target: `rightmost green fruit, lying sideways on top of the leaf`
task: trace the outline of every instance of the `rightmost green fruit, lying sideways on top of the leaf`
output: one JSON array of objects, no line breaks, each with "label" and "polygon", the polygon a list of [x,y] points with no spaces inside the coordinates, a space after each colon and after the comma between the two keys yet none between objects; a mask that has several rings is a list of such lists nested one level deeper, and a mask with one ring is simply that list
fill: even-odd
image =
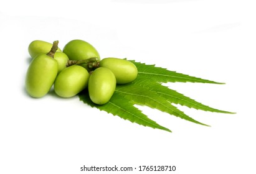
[{"label": "rightmost green fruit, lying sideways on top of the leaf", "polygon": [[118,84],[130,83],[138,76],[137,67],[125,59],[103,58],[100,61],[100,67],[110,69],[114,73]]}]

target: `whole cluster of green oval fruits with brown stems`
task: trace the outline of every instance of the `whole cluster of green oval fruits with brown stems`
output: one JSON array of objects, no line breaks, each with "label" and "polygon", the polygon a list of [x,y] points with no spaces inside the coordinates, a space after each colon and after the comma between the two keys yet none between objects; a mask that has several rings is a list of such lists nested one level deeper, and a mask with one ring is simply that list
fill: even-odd
[{"label": "whole cluster of green oval fruits with brown stems", "polygon": [[63,50],[53,44],[34,40],[29,44],[32,62],[26,74],[26,91],[41,98],[52,86],[62,98],[70,98],[88,88],[95,104],[107,103],[116,84],[130,83],[138,75],[136,66],[120,58],[103,58],[84,40],[71,40]]}]

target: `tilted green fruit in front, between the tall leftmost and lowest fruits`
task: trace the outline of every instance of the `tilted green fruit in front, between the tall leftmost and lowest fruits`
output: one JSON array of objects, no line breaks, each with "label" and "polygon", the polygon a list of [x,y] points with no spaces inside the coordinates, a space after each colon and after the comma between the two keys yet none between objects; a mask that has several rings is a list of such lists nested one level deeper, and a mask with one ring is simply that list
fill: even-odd
[{"label": "tilted green fruit in front, between the tall leftmost and lowest fruits", "polygon": [[87,87],[88,78],[89,73],[82,66],[69,66],[57,76],[54,82],[54,91],[62,98],[70,98]]}]

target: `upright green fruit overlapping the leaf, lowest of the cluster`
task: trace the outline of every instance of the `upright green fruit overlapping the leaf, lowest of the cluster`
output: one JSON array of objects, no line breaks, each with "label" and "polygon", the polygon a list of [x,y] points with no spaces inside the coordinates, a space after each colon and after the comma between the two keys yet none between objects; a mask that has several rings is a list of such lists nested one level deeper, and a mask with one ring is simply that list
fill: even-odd
[{"label": "upright green fruit overlapping the leaf, lowest of the cluster", "polygon": [[115,75],[108,68],[97,68],[89,77],[89,96],[95,104],[107,103],[113,95],[115,88]]}]

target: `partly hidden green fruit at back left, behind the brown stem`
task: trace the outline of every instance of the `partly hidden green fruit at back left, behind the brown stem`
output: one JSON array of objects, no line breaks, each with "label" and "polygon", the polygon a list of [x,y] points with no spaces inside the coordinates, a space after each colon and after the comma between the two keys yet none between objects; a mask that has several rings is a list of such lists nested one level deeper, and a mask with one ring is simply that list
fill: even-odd
[{"label": "partly hidden green fruit at back left, behind the brown stem", "polygon": [[[32,58],[35,58],[41,53],[48,53],[50,48],[52,48],[52,43],[42,40],[34,40],[29,44],[29,55],[31,55]],[[61,52],[60,48],[57,49],[57,52]]]}]

